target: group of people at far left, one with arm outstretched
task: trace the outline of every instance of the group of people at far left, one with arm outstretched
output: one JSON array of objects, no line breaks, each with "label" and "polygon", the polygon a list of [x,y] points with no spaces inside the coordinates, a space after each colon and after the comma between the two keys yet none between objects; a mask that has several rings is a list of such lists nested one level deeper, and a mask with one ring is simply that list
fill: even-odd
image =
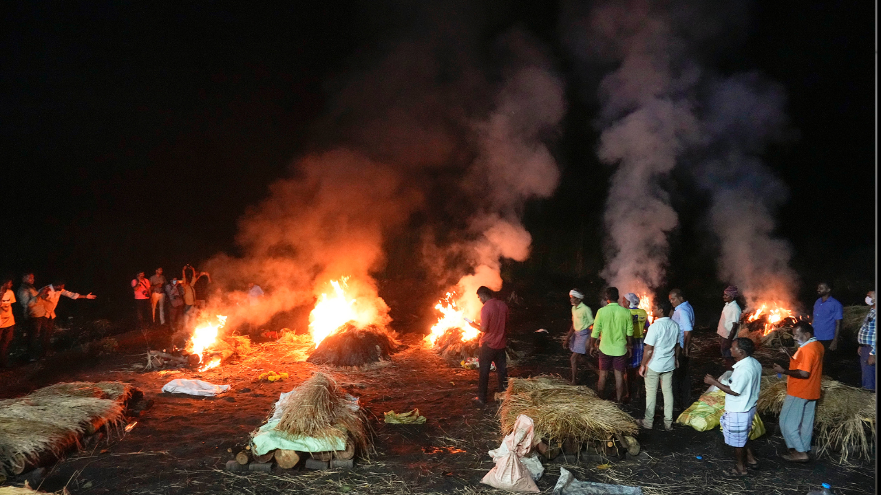
[{"label": "group of people at far left, one with arm outstretched", "polygon": [[[95,299],[92,292],[79,294],[65,289],[66,284],[58,280],[40,289],[34,286],[33,273],[21,278],[18,297],[12,292],[12,279],[5,278],[0,283],[0,367],[10,366],[9,346],[15,337],[17,326],[27,334],[28,357],[31,361],[44,358],[55,331],[56,307],[62,296],[69,299]],[[21,321],[16,325],[13,304],[21,306]]]}]

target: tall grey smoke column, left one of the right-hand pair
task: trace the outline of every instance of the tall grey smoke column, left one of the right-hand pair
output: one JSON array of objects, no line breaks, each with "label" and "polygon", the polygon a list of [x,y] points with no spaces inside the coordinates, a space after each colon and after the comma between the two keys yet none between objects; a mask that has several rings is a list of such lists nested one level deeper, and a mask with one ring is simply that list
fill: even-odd
[{"label": "tall grey smoke column, left one of the right-hand pair", "polygon": [[618,64],[599,87],[597,154],[617,166],[603,215],[601,276],[621,292],[650,293],[664,282],[667,234],[678,223],[660,182],[699,137],[693,92],[700,71],[681,53],[667,13],[649,2],[597,4],[586,27],[599,58]]}]

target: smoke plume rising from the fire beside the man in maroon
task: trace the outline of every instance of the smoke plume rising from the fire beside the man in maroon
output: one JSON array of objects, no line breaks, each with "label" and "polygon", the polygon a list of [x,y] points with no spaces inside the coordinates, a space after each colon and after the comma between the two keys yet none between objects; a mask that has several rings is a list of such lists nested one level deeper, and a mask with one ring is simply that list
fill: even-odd
[{"label": "smoke plume rising from the fire beside the man in maroon", "polygon": [[457,305],[472,317],[480,312],[479,286],[501,289],[501,260],[529,257],[532,236],[522,225],[524,203],[551,196],[559,182],[545,140],[555,136],[566,112],[563,82],[522,33],[512,33],[507,42],[516,55],[515,67],[492,114],[474,126],[478,158],[464,187],[478,209],[469,222],[471,240],[456,247],[470,265],[456,284]]}]

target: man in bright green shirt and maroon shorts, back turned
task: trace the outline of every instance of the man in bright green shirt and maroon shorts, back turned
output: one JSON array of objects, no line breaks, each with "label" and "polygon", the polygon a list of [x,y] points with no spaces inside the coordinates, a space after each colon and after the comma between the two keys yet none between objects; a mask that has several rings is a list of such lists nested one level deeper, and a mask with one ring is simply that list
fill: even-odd
[{"label": "man in bright green shirt and maroon shorts, back turned", "polygon": [[588,347],[591,356],[596,355],[597,349],[600,353],[600,379],[596,383],[596,394],[603,398],[606,377],[609,370],[613,369],[615,397],[621,403],[624,396],[624,370],[633,347],[633,316],[629,309],[618,305],[616,287],[607,288],[604,297],[608,304],[596,311],[594,330],[590,333]]}]

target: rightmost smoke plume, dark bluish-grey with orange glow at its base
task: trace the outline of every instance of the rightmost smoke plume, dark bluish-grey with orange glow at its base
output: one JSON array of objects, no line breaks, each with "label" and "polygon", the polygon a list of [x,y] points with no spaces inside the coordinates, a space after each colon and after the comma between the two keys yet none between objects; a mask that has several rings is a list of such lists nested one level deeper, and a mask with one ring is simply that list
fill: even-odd
[{"label": "rightmost smoke plume, dark bluish-grey with orange glow at its base", "polygon": [[719,277],[736,284],[751,307],[797,305],[791,247],[774,236],[774,211],[788,191],[759,159],[767,143],[786,137],[785,101],[780,85],[746,73],[714,81],[705,105],[708,158],[696,174],[712,194]]}]

